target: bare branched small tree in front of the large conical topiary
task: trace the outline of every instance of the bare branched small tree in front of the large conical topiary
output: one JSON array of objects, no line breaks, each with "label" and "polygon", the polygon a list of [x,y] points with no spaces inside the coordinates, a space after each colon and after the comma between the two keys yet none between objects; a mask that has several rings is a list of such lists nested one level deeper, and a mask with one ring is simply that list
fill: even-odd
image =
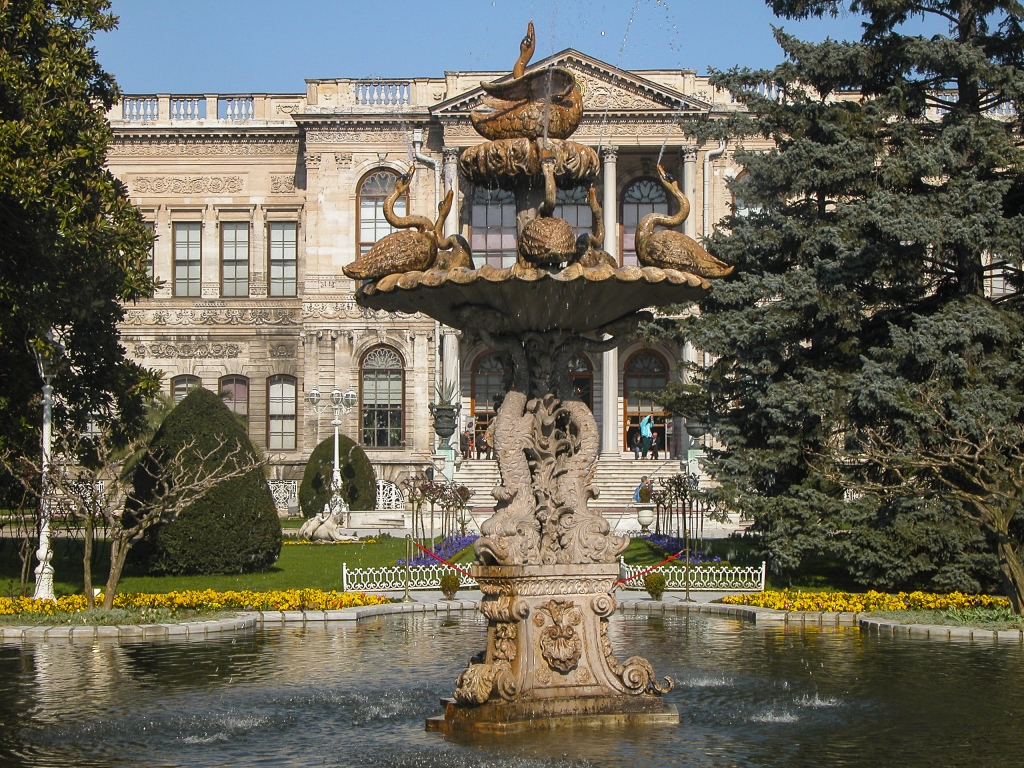
[{"label": "bare branched small tree in front of the large conical topiary", "polygon": [[[58,433],[45,478],[41,478],[41,467],[27,457],[14,457],[10,453],[0,455],[0,466],[11,474],[25,477],[25,486],[30,493],[45,493],[46,498],[42,501],[48,503],[50,509],[63,511],[86,527],[83,577],[89,607],[93,607],[93,521],[102,521],[111,547],[102,605],[104,610],[110,610],[128,553],[147,528],[175,520],[214,486],[259,469],[264,463],[250,456],[241,444],[231,446],[224,439],[208,451],[198,449],[195,441],[164,456],[145,451],[144,439],[119,443],[102,429],[89,433]],[[134,480],[138,479],[139,472],[153,487],[144,498],[135,493]]]}]

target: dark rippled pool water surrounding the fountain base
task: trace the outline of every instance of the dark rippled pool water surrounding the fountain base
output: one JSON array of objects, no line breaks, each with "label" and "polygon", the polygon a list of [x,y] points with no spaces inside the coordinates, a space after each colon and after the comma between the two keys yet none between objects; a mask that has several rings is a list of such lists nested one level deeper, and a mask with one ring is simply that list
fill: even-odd
[{"label": "dark rippled pool water surrounding the fountain base", "polygon": [[0,766],[1020,765],[1019,647],[616,616],[681,723],[443,740],[484,624],[381,618],[210,642],[0,648]]}]

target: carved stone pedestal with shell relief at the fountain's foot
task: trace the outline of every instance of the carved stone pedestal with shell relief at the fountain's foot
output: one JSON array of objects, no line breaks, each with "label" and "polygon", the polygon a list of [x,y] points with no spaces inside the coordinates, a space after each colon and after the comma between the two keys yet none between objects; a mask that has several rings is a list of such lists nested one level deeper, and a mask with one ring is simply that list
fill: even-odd
[{"label": "carved stone pedestal with shell relief at the fountain's foot", "polygon": [[428,730],[516,731],[561,725],[678,723],[647,659],[611,651],[614,563],[475,565],[487,647]]}]

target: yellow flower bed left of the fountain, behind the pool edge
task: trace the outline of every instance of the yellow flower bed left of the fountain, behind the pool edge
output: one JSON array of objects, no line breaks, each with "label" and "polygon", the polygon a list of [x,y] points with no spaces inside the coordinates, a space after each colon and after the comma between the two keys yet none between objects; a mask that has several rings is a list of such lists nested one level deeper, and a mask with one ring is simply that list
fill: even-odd
[{"label": "yellow flower bed left of the fountain, behind the pool edge", "polygon": [[[102,596],[96,598],[97,605]],[[114,596],[115,608],[170,608],[171,610],[337,610],[390,602],[380,595],[362,592],[325,592],[324,590],[275,590],[273,592],[187,590],[163,595],[143,592]],[[85,595],[68,595],[52,600],[31,597],[0,597],[0,615],[17,613],[74,613],[86,609]]]}]

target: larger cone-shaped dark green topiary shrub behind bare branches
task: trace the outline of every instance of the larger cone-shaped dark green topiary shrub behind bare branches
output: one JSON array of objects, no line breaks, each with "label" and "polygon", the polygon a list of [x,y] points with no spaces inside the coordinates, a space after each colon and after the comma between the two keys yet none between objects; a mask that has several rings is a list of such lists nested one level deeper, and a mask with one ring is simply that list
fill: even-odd
[{"label": "larger cone-shaped dark green topiary shrub behind bare branches", "polygon": [[[216,394],[197,388],[164,420],[142,461],[172,456],[193,441],[205,454],[220,440],[224,453],[241,445],[248,457],[259,455],[238,417]],[[211,458],[208,464],[212,470],[216,462]],[[153,480],[141,467],[134,480],[139,498],[153,493]],[[215,485],[176,520],[148,528],[135,549],[135,563],[155,573],[265,570],[281,554],[281,520],[262,468]]]}]

